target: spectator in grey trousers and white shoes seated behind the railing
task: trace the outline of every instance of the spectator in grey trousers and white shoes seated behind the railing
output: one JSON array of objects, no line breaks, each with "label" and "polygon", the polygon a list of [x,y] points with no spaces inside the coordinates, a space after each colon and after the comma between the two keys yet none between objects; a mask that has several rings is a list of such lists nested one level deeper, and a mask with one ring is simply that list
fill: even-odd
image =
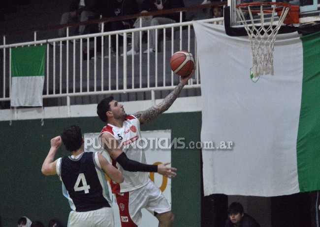
[{"label": "spectator in grey trousers and white shoes seated behind the railing", "polygon": [[[185,7],[183,0],[144,0],[142,2],[142,12],[161,11],[165,9],[174,9]],[[183,14],[183,20],[185,14]],[[180,21],[180,13],[155,15],[153,17],[142,18],[141,27],[157,26],[163,24],[172,24]],[[140,19],[134,24],[135,28],[140,28]],[[127,55],[137,54],[139,52],[139,32],[134,34],[133,47],[127,52]],[[143,53],[156,52],[156,31],[150,31],[150,48]]]}]

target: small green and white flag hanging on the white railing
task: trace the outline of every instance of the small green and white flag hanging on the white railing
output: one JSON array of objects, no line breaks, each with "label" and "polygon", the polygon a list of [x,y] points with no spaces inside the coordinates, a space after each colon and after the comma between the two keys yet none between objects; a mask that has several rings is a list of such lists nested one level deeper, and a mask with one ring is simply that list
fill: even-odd
[{"label": "small green and white flag hanging on the white railing", "polygon": [[11,50],[11,107],[42,106],[46,45]]}]

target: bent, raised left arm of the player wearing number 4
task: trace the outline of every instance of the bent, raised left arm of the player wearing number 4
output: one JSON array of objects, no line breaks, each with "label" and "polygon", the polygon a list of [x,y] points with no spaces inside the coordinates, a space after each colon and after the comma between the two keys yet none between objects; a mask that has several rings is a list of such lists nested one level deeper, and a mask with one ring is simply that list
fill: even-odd
[{"label": "bent, raised left arm of the player wearing number 4", "polygon": [[55,155],[62,144],[62,139],[60,136],[57,136],[50,141],[51,148],[47,157],[44,159],[41,172],[46,175],[55,175],[57,174],[56,166],[57,160],[54,161]]}]

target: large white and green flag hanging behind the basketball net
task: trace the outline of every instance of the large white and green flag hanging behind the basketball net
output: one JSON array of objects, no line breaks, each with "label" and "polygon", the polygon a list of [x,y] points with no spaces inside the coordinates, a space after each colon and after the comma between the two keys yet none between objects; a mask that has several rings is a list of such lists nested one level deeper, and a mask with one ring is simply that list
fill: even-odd
[{"label": "large white and green flag hanging behind the basketball net", "polygon": [[204,195],[320,190],[320,33],[278,35],[274,76],[254,81],[248,37],[229,37],[224,26],[193,26],[201,141],[215,148],[202,149]]}]

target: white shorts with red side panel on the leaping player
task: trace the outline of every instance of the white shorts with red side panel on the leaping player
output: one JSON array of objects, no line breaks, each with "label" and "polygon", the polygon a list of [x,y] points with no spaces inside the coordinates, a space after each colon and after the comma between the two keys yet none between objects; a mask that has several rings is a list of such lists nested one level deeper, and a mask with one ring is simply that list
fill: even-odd
[{"label": "white shorts with red side panel on the leaping player", "polygon": [[168,201],[152,181],[142,188],[117,193],[116,198],[122,227],[138,226],[142,208],[146,208],[153,215],[171,211]]}]

